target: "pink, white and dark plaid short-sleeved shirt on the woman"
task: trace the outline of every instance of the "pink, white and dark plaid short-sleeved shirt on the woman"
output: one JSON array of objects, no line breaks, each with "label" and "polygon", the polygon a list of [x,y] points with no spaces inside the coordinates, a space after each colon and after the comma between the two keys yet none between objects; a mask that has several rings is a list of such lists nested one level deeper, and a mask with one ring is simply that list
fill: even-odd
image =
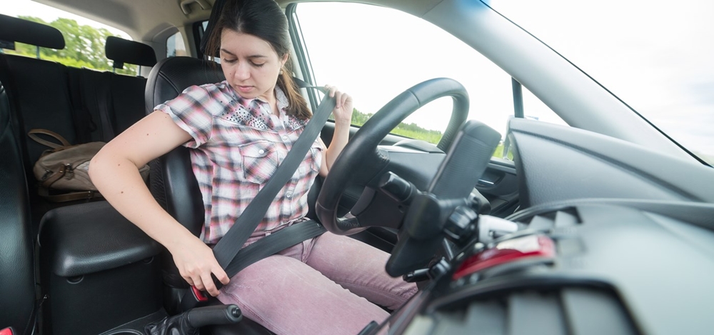
[{"label": "pink, white and dark plaid short-sleeved shirt on the woman", "polygon": [[[203,196],[203,241],[215,244],[281,164],[307,121],[288,116],[288,99],[276,86],[280,116],[259,99],[243,99],[226,81],[191,86],[156,106],[193,139],[193,174]],[[256,232],[299,221],[307,214],[307,194],[320,171],[323,147],[316,140],[293,177],[266,212]]]}]

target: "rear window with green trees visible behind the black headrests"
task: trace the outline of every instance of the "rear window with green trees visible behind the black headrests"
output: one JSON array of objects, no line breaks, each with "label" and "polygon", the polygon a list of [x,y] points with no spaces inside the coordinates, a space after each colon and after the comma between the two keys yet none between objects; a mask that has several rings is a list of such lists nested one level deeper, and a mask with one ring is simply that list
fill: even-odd
[{"label": "rear window with green trees visible behind the black headrests", "polygon": [[[39,48],[39,58],[56,61],[65,66],[112,71],[112,61],[104,54],[106,38],[118,36],[131,40],[124,31],[33,1],[19,0],[13,6],[3,6],[0,12],[47,24],[61,31],[65,41],[64,49]],[[21,43],[16,43],[14,50],[3,49],[2,52],[33,58],[38,54],[36,46]],[[124,69],[117,69],[116,72],[136,76],[137,70],[138,66],[125,64]]]}]

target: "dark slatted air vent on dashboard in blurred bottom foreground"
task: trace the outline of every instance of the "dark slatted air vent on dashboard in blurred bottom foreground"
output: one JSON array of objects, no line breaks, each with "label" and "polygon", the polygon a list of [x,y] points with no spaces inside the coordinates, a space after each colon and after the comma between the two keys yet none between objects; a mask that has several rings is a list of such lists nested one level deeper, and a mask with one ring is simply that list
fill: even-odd
[{"label": "dark slatted air vent on dashboard in blurred bottom foreground", "polygon": [[[468,300],[468,299],[467,299]],[[511,291],[417,316],[404,334],[638,334],[615,294],[563,287]]]}]

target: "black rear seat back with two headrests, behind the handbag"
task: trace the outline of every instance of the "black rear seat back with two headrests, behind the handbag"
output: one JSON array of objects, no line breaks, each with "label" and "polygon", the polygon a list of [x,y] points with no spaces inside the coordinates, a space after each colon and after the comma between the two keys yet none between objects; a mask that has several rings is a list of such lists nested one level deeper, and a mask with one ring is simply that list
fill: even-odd
[{"label": "black rear seat back with two headrests, behind the handbag", "polygon": [[[1,14],[0,41],[51,49],[65,46],[59,30]],[[109,37],[105,51],[107,57],[114,60],[115,67],[121,68],[124,63],[156,64],[154,50],[139,42]],[[29,139],[28,131],[49,129],[70,144],[110,141],[145,116],[146,79],[0,54],[0,81],[9,99],[14,136],[30,189],[32,231],[36,233],[46,211],[82,201],[52,204],[37,195],[32,166],[49,148]]]}]

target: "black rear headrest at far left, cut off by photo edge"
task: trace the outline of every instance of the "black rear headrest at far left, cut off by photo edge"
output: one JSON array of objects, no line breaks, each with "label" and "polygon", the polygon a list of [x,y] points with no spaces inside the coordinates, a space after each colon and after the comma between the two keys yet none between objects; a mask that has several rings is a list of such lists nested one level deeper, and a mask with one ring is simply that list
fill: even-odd
[{"label": "black rear headrest at far left, cut off by photo edge", "polygon": [[0,41],[64,49],[64,37],[54,27],[0,14]]}]

